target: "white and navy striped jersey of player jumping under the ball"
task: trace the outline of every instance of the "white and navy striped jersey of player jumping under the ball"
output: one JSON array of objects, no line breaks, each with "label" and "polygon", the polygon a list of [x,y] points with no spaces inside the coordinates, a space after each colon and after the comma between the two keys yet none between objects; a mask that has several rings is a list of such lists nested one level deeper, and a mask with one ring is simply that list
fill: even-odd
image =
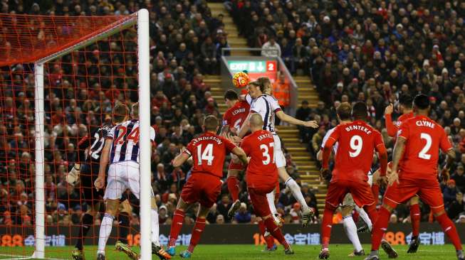
[{"label": "white and navy striped jersey of player jumping under the ball", "polygon": [[276,134],[274,121],[276,112],[280,111],[281,107],[278,100],[269,94],[262,94],[260,97],[252,100],[250,107],[251,113],[258,113],[263,119],[263,130],[271,131],[271,134]]}]

